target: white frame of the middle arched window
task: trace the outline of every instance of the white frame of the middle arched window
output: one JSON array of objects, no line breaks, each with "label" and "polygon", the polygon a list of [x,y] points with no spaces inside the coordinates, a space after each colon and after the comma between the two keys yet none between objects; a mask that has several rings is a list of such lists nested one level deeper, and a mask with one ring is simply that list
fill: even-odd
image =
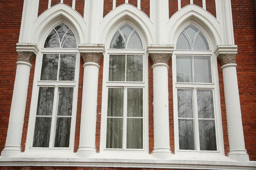
[{"label": "white frame of the middle arched window", "polygon": [[[128,23],[128,22],[125,22]],[[108,36],[108,42],[106,46],[108,49],[105,52],[104,64],[103,64],[103,83],[102,83],[102,118],[101,118],[101,134],[100,134],[100,153],[148,153],[148,55],[146,52],[145,38],[143,39],[140,31],[134,26],[134,24],[128,23],[137,33],[140,35],[140,39],[143,44],[143,49],[110,49],[110,43],[112,37],[116,31],[122,27],[125,23],[118,25],[114,28],[112,34]],[[109,57],[110,55],[142,55],[143,56],[143,81],[142,82],[112,82],[108,81],[109,79]],[[126,108],[127,106],[127,94],[125,98],[124,91],[124,118],[123,119],[123,148],[122,149],[112,149],[106,148],[106,136],[107,136],[107,110],[108,110],[108,88],[143,88],[143,149],[124,149],[126,148],[126,126],[125,122],[127,121]],[[125,104],[126,102],[126,104]]]}]

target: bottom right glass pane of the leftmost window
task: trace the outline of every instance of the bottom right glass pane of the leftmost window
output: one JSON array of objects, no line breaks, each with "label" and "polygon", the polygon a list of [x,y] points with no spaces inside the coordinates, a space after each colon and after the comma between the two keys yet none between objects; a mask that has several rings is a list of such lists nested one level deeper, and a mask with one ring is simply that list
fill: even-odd
[{"label": "bottom right glass pane of the leftmost window", "polygon": [[57,117],[54,147],[69,147],[71,117]]}]

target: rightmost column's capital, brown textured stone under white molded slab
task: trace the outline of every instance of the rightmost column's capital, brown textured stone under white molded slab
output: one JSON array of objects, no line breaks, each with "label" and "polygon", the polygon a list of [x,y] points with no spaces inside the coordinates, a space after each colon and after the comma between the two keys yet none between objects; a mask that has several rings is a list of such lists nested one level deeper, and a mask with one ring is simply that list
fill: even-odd
[{"label": "rightmost column's capital, brown textured stone under white molded slab", "polygon": [[220,59],[221,65],[236,65],[237,45],[218,45],[215,54]]}]

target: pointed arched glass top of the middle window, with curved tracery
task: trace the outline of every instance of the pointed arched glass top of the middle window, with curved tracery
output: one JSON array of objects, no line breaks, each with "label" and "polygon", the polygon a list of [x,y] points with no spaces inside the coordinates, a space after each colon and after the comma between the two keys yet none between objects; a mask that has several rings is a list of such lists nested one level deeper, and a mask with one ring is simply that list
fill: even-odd
[{"label": "pointed arched glass top of the middle window, with curved tracery", "polygon": [[128,23],[121,26],[114,34],[111,49],[143,49],[138,32]]}]

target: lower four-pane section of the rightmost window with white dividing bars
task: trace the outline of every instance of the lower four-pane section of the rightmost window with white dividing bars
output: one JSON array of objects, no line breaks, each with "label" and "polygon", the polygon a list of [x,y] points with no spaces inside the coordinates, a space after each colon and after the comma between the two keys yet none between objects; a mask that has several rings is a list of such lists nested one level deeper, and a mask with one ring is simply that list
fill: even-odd
[{"label": "lower four-pane section of the rightmost window with white dividing bars", "polygon": [[[182,97],[183,91],[188,92],[189,88],[178,88],[178,114],[180,115],[180,111],[184,111],[183,106],[179,106],[179,103],[181,105],[187,105],[188,102],[188,97]],[[191,88],[190,88],[191,91]],[[198,101],[201,101],[200,99],[201,96],[198,96],[198,93],[200,91],[205,91],[205,92],[211,92],[213,93],[213,89],[197,89],[194,88],[192,90],[192,103],[193,106],[193,118],[189,117],[182,117],[178,116],[178,122],[179,122],[179,146],[180,150],[217,150],[217,143],[216,143],[216,126],[215,126],[215,116],[214,116],[214,111],[213,111],[213,117],[211,118],[199,118],[198,117]],[[185,93],[186,94],[186,93]],[[183,95],[184,96],[184,95]],[[213,101],[213,96],[206,96],[206,98],[209,98],[206,102],[204,101],[203,104],[205,107],[209,107],[209,105],[214,105],[213,103],[211,104],[210,102]],[[198,99],[199,98],[199,99]],[[182,102],[181,100],[184,100]],[[187,110],[186,110],[187,111]],[[192,123],[192,122],[193,123]],[[194,122],[195,121],[195,122]],[[203,123],[204,122],[204,123]],[[207,123],[210,122],[210,123]],[[193,126],[192,126],[193,125]],[[193,136],[193,134],[194,136]],[[189,137],[188,137],[189,136]],[[195,137],[195,139],[194,139]],[[210,144],[207,144],[210,143]],[[195,145],[195,148],[192,146]]]}]

